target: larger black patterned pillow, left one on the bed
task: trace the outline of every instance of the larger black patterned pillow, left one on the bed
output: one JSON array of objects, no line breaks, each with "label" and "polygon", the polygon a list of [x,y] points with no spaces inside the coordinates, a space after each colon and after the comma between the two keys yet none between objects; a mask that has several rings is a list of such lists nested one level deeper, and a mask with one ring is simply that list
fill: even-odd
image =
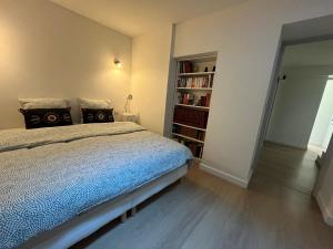
[{"label": "larger black patterned pillow, left one on the bed", "polygon": [[26,128],[41,128],[72,125],[70,108],[31,108],[20,112],[24,116]]}]

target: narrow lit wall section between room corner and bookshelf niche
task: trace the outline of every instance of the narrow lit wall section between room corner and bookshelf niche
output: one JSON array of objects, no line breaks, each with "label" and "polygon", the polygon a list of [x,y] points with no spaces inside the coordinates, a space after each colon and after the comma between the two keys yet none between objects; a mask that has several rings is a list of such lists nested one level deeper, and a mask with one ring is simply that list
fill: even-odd
[{"label": "narrow lit wall section between room corner and bookshelf niche", "polygon": [[133,38],[132,112],[140,123],[163,134],[172,25]]}]

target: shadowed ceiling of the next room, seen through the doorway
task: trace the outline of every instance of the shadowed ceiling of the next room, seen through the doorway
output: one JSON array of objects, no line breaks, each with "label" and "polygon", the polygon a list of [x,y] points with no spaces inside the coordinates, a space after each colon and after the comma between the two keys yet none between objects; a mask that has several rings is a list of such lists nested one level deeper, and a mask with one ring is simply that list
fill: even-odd
[{"label": "shadowed ceiling of the next room, seen through the doorway", "polygon": [[283,66],[333,65],[333,40],[289,45],[283,54]]}]

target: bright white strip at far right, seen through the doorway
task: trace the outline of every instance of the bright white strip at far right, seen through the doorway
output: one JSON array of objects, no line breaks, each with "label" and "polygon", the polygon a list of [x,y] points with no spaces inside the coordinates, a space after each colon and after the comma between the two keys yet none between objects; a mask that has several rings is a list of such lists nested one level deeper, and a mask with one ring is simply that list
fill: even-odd
[{"label": "bright white strip at far right, seen through the doorway", "polygon": [[319,112],[315,117],[314,126],[310,136],[310,144],[327,148],[332,135],[330,124],[333,120],[333,80],[327,81],[324,94],[321,101]]}]

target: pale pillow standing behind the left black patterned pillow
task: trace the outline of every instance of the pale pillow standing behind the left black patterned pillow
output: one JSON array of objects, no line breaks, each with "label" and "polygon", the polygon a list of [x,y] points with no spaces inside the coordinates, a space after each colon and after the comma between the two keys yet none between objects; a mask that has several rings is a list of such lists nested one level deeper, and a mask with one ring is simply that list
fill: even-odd
[{"label": "pale pillow standing behind the left black patterned pillow", "polygon": [[23,110],[69,107],[69,101],[64,98],[19,98],[19,102]]}]

